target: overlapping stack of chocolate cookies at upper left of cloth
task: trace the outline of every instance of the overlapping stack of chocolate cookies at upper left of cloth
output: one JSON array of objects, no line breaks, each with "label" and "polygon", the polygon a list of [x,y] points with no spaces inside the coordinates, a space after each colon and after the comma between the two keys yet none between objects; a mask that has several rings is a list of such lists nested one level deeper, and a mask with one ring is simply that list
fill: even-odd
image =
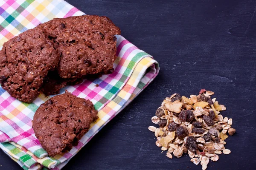
[{"label": "overlapping stack of chocolate cookies at upper left of cloth", "polygon": [[121,31],[107,17],[55,18],[3,44],[0,84],[22,102],[40,93],[58,94],[85,76],[113,72],[116,34]]}]

